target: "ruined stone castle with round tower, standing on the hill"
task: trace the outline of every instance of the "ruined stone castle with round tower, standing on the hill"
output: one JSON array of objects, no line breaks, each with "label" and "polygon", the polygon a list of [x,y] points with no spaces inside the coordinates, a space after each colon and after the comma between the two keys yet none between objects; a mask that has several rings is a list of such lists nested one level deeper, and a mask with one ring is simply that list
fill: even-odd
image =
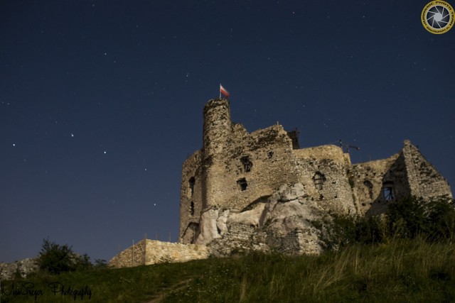
[{"label": "ruined stone castle with round tower, standing on the hill", "polygon": [[208,244],[232,234],[234,217],[243,218],[243,231],[252,228],[245,232],[251,238],[264,226],[264,207],[280,188],[278,199],[289,201],[284,196],[300,192],[296,205],[327,214],[380,214],[411,195],[451,197],[448,182],[410,141],[387,159],[352,164],[341,146],[299,148],[298,133],[279,124],[248,133],[232,123],[227,99],[211,99],[203,111],[203,147],[183,162],[181,243]]}]

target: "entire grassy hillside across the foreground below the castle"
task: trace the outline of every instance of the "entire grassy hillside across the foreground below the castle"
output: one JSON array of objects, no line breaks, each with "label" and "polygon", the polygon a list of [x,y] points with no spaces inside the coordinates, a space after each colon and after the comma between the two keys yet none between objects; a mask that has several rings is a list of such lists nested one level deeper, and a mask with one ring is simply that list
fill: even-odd
[{"label": "entire grassy hillside across the foreground below the castle", "polygon": [[[74,302],[72,296],[54,296],[46,286],[53,281],[90,287],[91,299],[82,302],[455,302],[455,246],[397,240],[317,257],[251,253],[27,281],[44,290],[36,302]],[[11,283],[4,282],[5,290]],[[4,302],[34,297],[3,294]]]}]

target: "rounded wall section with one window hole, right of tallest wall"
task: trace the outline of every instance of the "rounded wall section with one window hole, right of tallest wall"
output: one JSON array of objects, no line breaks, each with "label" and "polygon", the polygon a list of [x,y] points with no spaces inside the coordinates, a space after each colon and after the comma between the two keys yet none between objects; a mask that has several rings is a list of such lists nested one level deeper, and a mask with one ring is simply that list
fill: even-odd
[{"label": "rounded wall section with one window hole, right of tallest wall", "polygon": [[293,152],[297,158],[294,170],[311,201],[318,202],[328,213],[356,214],[347,176],[350,165],[341,148],[323,145]]}]

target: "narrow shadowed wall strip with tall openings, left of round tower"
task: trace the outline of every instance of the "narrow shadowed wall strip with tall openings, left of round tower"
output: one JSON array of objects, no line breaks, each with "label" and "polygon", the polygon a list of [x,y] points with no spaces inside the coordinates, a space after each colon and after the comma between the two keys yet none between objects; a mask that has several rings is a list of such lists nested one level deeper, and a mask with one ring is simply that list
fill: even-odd
[{"label": "narrow shadowed wall strip with tall openings, left of round tower", "polygon": [[183,243],[193,243],[202,211],[201,151],[193,153],[183,162],[180,193],[180,235]]}]

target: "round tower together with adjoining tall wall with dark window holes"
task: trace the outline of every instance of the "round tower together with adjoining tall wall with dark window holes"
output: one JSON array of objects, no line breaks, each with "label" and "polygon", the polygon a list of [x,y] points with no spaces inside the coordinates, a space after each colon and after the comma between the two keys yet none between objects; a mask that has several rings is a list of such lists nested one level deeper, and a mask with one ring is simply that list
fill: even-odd
[{"label": "round tower together with adjoining tall wall with dark window holes", "polygon": [[282,126],[249,134],[230,121],[227,100],[210,100],[204,109],[203,209],[223,205],[240,211],[283,182],[296,182],[291,150]]}]

